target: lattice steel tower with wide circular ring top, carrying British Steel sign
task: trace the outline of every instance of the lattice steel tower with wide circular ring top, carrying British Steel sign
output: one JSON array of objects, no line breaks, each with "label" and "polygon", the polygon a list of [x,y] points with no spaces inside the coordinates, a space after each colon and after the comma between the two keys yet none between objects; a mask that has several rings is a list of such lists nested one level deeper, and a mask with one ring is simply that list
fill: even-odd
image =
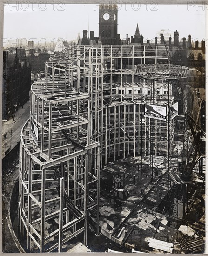
[{"label": "lattice steel tower with wide circular ring top, carrying British Steel sign", "polygon": [[[156,106],[165,106],[167,108],[167,118],[166,121],[154,120],[152,118],[145,118],[144,126],[145,133],[144,137],[144,156],[149,155],[149,166],[152,168],[152,180],[154,179],[154,170],[157,169],[157,158],[164,158],[164,167],[167,168],[167,207],[165,211],[168,214],[172,214],[174,210],[174,193],[172,191],[177,191],[177,185],[180,184],[177,181],[179,170],[179,157],[182,155],[182,162],[184,161],[184,155],[181,152],[187,150],[186,147],[179,148],[179,130],[178,130],[178,115],[172,118],[171,108],[174,103],[178,103],[178,95],[174,95],[175,92],[178,94],[179,82],[181,79],[186,79],[188,77],[188,67],[172,65],[172,64],[146,64],[146,65],[136,65],[135,74],[141,77],[143,80],[150,80],[151,85],[150,104]],[[163,87],[166,90],[166,97],[160,94],[158,90],[157,83],[161,81]],[[161,101],[162,97],[162,101]],[[143,95],[142,95],[143,98]],[[142,100],[142,104],[143,104]],[[142,108],[143,109],[143,108]],[[163,132],[162,132],[163,130]],[[186,136],[186,132],[184,134]],[[161,142],[162,140],[162,142]],[[148,142],[148,145],[146,143]],[[148,148],[148,149],[147,149]],[[146,153],[146,150],[148,151]],[[141,158],[143,154],[141,154]],[[159,157],[159,160],[160,160]],[[142,173],[142,167],[141,167]],[[183,189],[184,190],[184,189]],[[141,188],[142,191],[142,188]],[[186,200],[183,198],[184,201]],[[176,202],[177,204],[177,202]],[[185,204],[183,204],[185,206]],[[184,209],[185,212],[185,209]]]}]

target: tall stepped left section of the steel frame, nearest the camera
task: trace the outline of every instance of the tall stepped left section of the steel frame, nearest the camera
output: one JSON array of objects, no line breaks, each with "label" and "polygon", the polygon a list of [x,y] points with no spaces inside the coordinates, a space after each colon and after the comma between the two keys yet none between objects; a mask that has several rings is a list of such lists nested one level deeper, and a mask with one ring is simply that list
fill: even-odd
[{"label": "tall stepped left section of the steel frame, nearest the camera", "polygon": [[[87,244],[88,211],[99,207],[100,148],[91,115],[93,93],[95,109],[101,107],[102,58],[102,48],[70,47],[47,61],[45,78],[32,85],[31,118],[20,138],[19,217],[29,251],[61,252],[82,231]],[[49,233],[46,224],[55,218]]]}]

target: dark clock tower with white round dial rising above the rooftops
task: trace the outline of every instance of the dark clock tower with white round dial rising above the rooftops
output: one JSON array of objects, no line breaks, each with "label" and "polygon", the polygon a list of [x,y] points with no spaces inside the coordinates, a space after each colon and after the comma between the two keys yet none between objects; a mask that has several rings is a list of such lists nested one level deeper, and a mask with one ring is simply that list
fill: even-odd
[{"label": "dark clock tower with white round dial rising above the rooftops", "polygon": [[118,34],[118,6],[104,5],[99,6],[99,37],[102,44],[120,44]]}]

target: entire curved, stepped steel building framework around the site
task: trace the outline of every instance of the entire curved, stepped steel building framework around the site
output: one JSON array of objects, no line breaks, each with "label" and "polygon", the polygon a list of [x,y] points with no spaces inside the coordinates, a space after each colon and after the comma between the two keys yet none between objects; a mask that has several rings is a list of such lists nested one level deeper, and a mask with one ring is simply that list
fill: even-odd
[{"label": "entire curved, stepped steel building framework around the site", "polygon": [[168,155],[173,129],[143,122],[144,104],[174,103],[161,77],[187,75],[187,67],[157,64],[168,62],[165,53],[163,46],[72,46],[46,62],[20,136],[19,220],[29,251],[61,252],[83,231],[86,245],[88,215],[99,234],[99,172],[108,161]]}]

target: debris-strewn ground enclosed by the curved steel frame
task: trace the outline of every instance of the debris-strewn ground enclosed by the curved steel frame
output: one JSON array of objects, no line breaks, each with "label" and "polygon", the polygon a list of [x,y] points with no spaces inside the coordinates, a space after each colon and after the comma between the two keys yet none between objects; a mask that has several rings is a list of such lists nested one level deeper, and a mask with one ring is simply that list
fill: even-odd
[{"label": "debris-strewn ground enclosed by the curved steel frame", "polygon": [[[181,229],[180,225],[177,228],[169,226],[167,215],[158,212],[168,193],[167,168],[161,168],[155,175],[155,169],[147,166],[141,171],[140,162],[139,158],[118,160],[109,163],[101,172],[101,233],[122,247],[138,251],[163,252],[149,247],[149,239],[154,238],[173,243],[172,252],[182,253],[178,239],[184,234],[198,235],[187,225],[181,225]],[[202,219],[203,212],[202,208]]]}]

